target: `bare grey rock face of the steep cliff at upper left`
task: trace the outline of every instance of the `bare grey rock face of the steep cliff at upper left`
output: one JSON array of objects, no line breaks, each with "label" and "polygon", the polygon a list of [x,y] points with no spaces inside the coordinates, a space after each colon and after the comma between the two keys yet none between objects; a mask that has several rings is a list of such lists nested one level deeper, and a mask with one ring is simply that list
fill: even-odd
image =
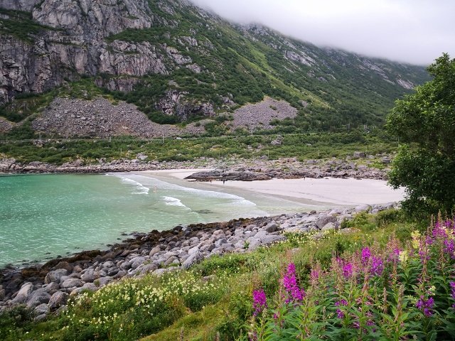
[{"label": "bare grey rock face of the steep cliff at upper left", "polygon": [[[167,74],[156,47],[105,38],[125,28],[148,28],[154,16],[144,0],[0,0],[4,9],[28,11],[43,28],[34,42],[0,34],[0,104],[21,92],[43,92],[79,74],[141,76]],[[6,18],[9,18],[6,16]],[[11,18],[14,20],[14,18]],[[178,53],[176,53],[178,55]],[[191,60],[185,60],[191,63]],[[131,90],[134,82],[113,82],[112,90]]]}]

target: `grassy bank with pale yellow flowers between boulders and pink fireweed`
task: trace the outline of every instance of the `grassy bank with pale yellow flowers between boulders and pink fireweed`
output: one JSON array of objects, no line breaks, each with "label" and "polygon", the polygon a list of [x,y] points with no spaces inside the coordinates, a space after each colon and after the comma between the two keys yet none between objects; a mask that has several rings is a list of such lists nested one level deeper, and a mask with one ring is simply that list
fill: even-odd
[{"label": "grassy bank with pale yellow flowers between boulders and pink fireweed", "polygon": [[[363,214],[350,222],[350,233],[289,232],[287,242],[249,254],[215,256],[190,271],[124,279],[72,298],[65,313],[49,315],[41,322],[28,318],[26,308],[14,308],[0,315],[0,337],[43,341],[139,337],[144,341],[238,340],[246,336],[252,323],[253,291],[262,288],[267,298],[279,300],[283,292],[280,278],[287,264],[295,264],[299,287],[307,288],[315,264],[325,271],[331,269],[334,255],[346,259],[365,247],[377,250],[377,245],[391,241],[400,247],[411,240],[410,232],[414,235],[426,229],[424,224],[393,218],[398,215],[390,211],[378,216]],[[394,239],[394,234],[401,236],[400,240]],[[269,304],[272,309],[272,301]]]}]

